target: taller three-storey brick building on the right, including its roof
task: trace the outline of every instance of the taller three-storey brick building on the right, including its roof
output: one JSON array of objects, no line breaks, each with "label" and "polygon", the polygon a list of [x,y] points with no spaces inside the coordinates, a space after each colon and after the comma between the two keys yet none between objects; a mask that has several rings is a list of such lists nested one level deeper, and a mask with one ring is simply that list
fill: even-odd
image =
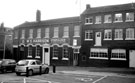
[{"label": "taller three-storey brick building on the right, including its roof", "polygon": [[86,6],[80,66],[135,67],[135,3]]}]

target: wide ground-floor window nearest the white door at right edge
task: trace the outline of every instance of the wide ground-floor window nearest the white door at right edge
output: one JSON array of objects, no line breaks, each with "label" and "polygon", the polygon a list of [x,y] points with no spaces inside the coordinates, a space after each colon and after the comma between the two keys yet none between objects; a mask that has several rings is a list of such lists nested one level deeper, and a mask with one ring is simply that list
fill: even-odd
[{"label": "wide ground-floor window nearest the white door at right edge", "polygon": [[126,60],[126,50],[113,49],[111,54],[111,60]]}]

